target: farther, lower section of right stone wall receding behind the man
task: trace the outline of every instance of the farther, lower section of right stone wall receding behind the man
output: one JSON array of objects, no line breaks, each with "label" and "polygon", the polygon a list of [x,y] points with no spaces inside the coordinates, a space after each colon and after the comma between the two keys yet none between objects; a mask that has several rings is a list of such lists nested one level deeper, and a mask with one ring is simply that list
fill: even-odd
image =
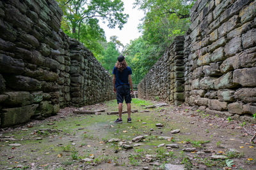
[{"label": "farther, lower section of right stone wall receding behind the man", "polygon": [[174,39],[163,57],[138,85],[142,99],[161,99],[168,103],[184,102],[184,36]]}]

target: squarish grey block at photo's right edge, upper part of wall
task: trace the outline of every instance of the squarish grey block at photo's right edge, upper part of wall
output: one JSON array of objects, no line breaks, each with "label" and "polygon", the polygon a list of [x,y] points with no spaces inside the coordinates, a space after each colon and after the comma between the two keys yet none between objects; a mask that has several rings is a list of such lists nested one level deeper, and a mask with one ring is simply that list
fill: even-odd
[{"label": "squarish grey block at photo's right edge, upper part of wall", "polygon": [[242,34],[243,48],[250,48],[256,45],[256,28]]}]

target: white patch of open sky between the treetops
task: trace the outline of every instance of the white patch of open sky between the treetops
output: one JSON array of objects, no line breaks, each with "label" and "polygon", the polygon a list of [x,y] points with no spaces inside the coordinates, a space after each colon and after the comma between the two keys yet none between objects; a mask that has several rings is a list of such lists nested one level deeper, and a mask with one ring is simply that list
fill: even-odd
[{"label": "white patch of open sky between the treetops", "polygon": [[107,41],[111,36],[117,36],[118,40],[121,41],[123,45],[129,44],[130,40],[139,38],[141,36],[141,32],[138,30],[138,25],[142,24],[141,18],[144,17],[144,13],[142,10],[138,10],[138,8],[132,8],[134,0],[123,0],[124,2],[124,13],[129,14],[129,18],[127,23],[124,24],[122,30],[116,27],[115,29],[109,29],[108,24],[103,24],[100,22],[100,26],[105,31],[105,35]]}]

